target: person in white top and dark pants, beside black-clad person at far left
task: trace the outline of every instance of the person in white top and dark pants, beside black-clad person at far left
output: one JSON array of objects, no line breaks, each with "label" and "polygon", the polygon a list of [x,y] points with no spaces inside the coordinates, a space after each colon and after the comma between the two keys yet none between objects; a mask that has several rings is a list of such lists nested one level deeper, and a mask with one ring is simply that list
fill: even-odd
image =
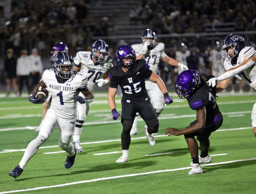
[{"label": "person in white top and dark pants, beside black-clad person at far left", "polygon": [[19,94],[21,95],[21,91],[23,89],[23,83],[25,82],[28,90],[28,94],[31,93],[30,84],[29,84],[29,74],[31,70],[31,60],[27,56],[27,50],[20,51],[20,57],[17,60],[17,77],[19,78]]}]

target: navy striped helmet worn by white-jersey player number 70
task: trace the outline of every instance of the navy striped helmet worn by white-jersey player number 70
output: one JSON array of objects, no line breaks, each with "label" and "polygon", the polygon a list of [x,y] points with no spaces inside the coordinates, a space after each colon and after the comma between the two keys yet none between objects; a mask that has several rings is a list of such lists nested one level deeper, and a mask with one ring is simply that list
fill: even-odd
[{"label": "navy striped helmet worn by white-jersey player number 70", "polygon": [[[99,54],[99,52],[102,54]],[[97,40],[92,44],[92,58],[98,63],[105,63],[109,57],[109,46],[103,40]]]}]

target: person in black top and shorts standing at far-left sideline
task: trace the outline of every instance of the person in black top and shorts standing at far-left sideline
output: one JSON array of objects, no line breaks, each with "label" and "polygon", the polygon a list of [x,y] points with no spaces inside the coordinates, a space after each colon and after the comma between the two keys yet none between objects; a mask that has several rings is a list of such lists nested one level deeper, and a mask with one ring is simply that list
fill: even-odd
[{"label": "person in black top and shorts standing at far-left sideline", "polygon": [[13,49],[9,48],[6,50],[6,59],[4,60],[4,70],[6,72],[6,96],[10,95],[11,83],[14,88],[14,92],[19,96],[18,86],[17,86],[17,75],[16,75],[16,66],[17,60],[13,57]]}]

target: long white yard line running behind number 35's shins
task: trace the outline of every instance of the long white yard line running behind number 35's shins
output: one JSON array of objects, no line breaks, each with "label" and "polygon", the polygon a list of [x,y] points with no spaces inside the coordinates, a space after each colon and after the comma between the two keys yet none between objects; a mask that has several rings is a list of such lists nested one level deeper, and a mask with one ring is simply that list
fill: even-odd
[{"label": "long white yard line running behind number 35's shins", "polygon": [[[218,129],[217,131],[233,131],[233,130],[243,130],[243,129],[252,129],[252,127],[239,127],[239,128],[233,128],[233,129]],[[166,135],[155,135],[154,137],[167,137]],[[131,138],[133,139],[145,139],[147,138],[146,136],[143,137],[138,137],[138,138]],[[113,140],[105,140],[105,141],[96,141],[96,142],[84,142],[80,144],[93,144],[93,143],[105,143],[105,142],[118,142],[121,141],[121,139],[113,139]],[[56,146],[41,146],[39,149],[44,149],[44,148],[56,148],[59,147],[59,145]],[[25,151],[26,149],[3,149],[3,151],[0,151],[0,153],[8,153],[8,152],[18,152],[18,151]]]}]

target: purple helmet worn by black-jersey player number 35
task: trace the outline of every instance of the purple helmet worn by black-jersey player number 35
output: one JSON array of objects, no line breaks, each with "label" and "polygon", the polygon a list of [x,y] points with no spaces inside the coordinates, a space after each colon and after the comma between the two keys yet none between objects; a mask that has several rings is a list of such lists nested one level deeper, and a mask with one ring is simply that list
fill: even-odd
[{"label": "purple helmet worn by black-jersey player number 35", "polygon": [[[129,45],[121,45],[116,52],[118,63],[126,69],[132,69],[136,66],[136,54],[134,49]],[[130,59],[124,63],[123,60]]]}]

